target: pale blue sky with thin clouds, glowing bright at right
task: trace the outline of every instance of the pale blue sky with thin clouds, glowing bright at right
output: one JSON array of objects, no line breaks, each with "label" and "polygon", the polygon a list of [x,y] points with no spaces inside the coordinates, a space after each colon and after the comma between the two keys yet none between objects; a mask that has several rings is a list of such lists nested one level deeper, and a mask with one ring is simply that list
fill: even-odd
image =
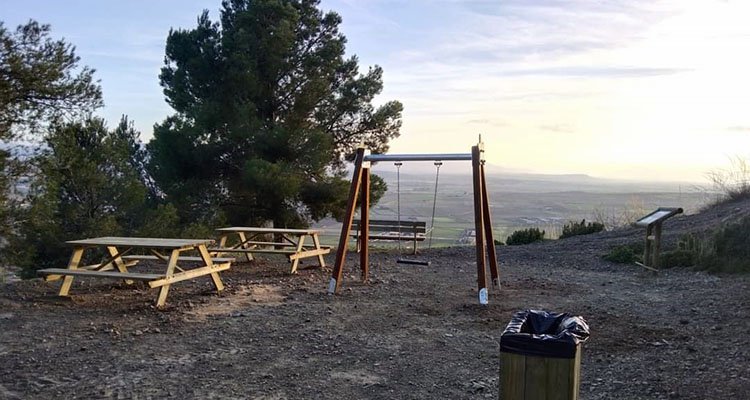
[{"label": "pale blue sky with thin clouds, glowing bright at right", "polygon": [[[96,69],[110,125],[148,141],[173,111],[158,74],[170,28],[219,0],[0,0]],[[466,153],[509,171],[705,181],[750,155],[750,1],[323,0],[347,54],[404,104],[391,153]]]}]

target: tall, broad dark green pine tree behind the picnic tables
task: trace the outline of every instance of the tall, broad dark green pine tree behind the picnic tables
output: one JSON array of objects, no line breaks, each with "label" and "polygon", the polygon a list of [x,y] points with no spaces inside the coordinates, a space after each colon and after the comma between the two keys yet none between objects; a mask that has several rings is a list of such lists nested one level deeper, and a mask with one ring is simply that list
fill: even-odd
[{"label": "tall, broad dark green pine tree behind the picnic tables", "polygon": [[[340,216],[344,160],[388,149],[402,106],[375,108],[382,69],[345,58],[341,17],[317,0],[224,1],[220,23],[173,30],[160,81],[176,114],[155,128],[149,171],[180,217],[304,226]],[[373,180],[373,202],[384,182]]]}]

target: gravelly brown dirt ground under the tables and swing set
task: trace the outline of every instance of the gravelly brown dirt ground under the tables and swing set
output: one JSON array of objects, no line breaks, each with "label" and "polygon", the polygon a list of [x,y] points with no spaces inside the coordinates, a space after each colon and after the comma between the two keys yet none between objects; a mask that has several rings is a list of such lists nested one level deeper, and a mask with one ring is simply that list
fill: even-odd
[{"label": "gravelly brown dirt ground under the tables and swing set", "polygon": [[425,252],[430,266],[375,253],[369,284],[350,255],[336,296],[311,262],[294,276],[280,258],[236,263],[224,293],[181,282],[164,311],[142,284],[77,279],[60,298],[59,283],[8,283],[0,399],[497,398],[498,341],[524,309],[589,322],[582,399],[750,398],[750,277],[601,260],[641,235],[498,247],[501,288],[484,307],[473,248]]}]

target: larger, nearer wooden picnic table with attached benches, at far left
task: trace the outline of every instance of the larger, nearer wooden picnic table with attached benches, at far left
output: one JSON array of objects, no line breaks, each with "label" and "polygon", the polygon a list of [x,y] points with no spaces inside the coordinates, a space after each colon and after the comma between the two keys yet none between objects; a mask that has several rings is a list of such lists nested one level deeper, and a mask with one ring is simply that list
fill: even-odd
[{"label": "larger, nearer wooden picnic table with attached benches, at far left", "polygon": [[[135,237],[99,237],[93,239],[71,240],[66,242],[73,246],[67,268],[48,268],[39,270],[48,281],[63,279],[60,296],[67,296],[73,279],[76,276],[122,279],[130,284],[134,280],[146,281],[152,288],[160,288],[156,306],[163,307],[167,300],[171,284],[199,276],[210,275],[217,291],[224,289],[219,272],[229,269],[233,259],[212,257],[208,245],[210,239],[158,239]],[[83,254],[87,249],[106,248],[108,257],[99,263],[81,265]],[[150,254],[129,254],[140,249]],[[182,256],[184,252],[196,251],[199,256]],[[129,270],[140,260],[163,261],[164,273],[138,273]],[[178,262],[198,263],[197,267],[183,268]],[[115,270],[116,269],[116,270]],[[176,270],[176,271],[175,271]]]}]

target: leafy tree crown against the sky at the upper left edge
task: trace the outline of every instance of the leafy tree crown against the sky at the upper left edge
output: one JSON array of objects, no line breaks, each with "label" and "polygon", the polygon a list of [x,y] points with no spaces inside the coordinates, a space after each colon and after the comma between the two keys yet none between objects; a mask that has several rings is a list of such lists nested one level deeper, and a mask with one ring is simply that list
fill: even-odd
[{"label": "leafy tree crown against the sky at the upper left edge", "polygon": [[74,47],[49,32],[49,25],[36,21],[15,32],[0,22],[0,140],[102,105],[94,70],[80,68]]}]

